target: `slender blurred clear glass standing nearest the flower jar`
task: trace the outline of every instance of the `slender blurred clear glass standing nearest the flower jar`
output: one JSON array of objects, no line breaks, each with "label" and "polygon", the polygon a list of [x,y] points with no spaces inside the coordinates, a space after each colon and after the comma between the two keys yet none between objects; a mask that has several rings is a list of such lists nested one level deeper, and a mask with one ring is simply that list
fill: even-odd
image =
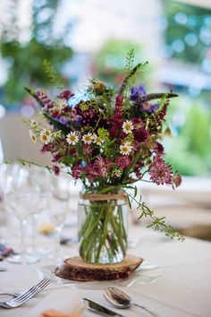
[{"label": "slender blurred clear glass standing nearest the flower jar", "polygon": [[51,194],[49,197],[49,216],[55,226],[55,248],[49,258],[56,261],[63,261],[64,254],[60,251],[61,233],[67,212],[70,198],[70,177],[51,176]]}]

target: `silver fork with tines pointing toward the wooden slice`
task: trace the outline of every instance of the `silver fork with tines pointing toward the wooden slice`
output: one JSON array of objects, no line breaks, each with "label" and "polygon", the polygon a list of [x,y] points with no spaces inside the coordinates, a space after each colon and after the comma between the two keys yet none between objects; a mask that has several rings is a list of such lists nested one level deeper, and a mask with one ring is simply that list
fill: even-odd
[{"label": "silver fork with tines pointing toward the wooden slice", "polygon": [[43,278],[37,285],[30,287],[20,296],[17,296],[9,301],[0,304],[3,308],[16,308],[21,304],[26,303],[32,296],[35,296],[38,292],[43,290],[51,282],[50,278]]}]

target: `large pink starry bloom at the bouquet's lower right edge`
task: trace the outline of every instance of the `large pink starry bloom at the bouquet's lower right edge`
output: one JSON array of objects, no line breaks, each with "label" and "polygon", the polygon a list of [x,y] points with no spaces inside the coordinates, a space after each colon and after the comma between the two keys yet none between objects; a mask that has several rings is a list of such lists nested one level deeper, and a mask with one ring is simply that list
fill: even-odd
[{"label": "large pink starry bloom at the bouquet's lower right edge", "polygon": [[164,159],[155,159],[149,169],[150,179],[156,184],[172,184],[172,168]]}]

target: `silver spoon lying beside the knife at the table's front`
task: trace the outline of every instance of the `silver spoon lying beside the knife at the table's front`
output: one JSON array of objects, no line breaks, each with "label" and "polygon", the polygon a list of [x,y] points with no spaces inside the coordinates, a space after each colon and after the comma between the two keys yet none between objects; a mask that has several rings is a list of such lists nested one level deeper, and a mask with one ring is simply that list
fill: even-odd
[{"label": "silver spoon lying beside the knife at the table's front", "polygon": [[134,305],[144,309],[146,312],[150,313],[151,316],[158,317],[158,314],[149,311],[145,306],[134,303],[131,297],[122,292],[122,290],[119,288],[107,287],[104,292],[104,297],[107,302],[113,304],[116,308],[128,308],[131,305]]}]

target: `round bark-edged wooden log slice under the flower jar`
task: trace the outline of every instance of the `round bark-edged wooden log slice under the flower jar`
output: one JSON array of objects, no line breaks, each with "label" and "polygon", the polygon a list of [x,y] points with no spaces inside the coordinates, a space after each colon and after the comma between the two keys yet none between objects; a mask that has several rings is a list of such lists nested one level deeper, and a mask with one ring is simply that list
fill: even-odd
[{"label": "round bark-edged wooden log slice under the flower jar", "polygon": [[80,256],[75,256],[64,260],[63,265],[55,269],[55,275],[59,278],[80,281],[129,278],[142,261],[142,258],[127,255],[120,263],[95,264],[84,262]]}]

